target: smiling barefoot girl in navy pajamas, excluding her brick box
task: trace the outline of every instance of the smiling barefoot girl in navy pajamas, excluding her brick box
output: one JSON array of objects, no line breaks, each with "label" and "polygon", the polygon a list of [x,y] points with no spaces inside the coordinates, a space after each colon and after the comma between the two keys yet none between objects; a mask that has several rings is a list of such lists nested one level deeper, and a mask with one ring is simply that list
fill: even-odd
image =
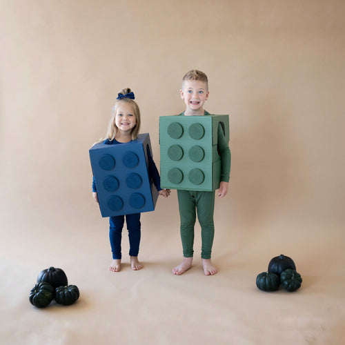
[{"label": "smiling barefoot girl in navy pajamas, excluding her brick box", "polygon": [[[110,116],[106,137],[100,139],[97,143],[103,141],[104,144],[117,145],[137,139],[140,129],[140,110],[134,99],[135,95],[130,88],[119,91],[112,115]],[[148,170],[159,195],[168,197],[170,190],[161,189],[159,173],[150,155],[148,155]],[[98,202],[95,178],[92,183],[92,195],[95,201]],[[125,215],[113,216],[109,219],[109,238],[113,259],[109,269],[112,272],[119,272],[121,269],[121,234],[124,219]],[[140,213],[126,215],[126,224],[130,242],[130,266],[132,270],[140,270],[143,267],[138,260],[141,237]]]}]

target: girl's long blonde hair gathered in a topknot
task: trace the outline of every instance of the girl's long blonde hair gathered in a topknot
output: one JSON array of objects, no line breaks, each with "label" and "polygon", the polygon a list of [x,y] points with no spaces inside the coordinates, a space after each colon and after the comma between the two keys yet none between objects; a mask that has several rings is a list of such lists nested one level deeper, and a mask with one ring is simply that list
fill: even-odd
[{"label": "girl's long blonde hair gathered in a topknot", "polygon": [[[130,88],[124,88],[122,90],[120,90],[118,92],[119,95],[126,95],[128,93],[132,92],[130,90]],[[133,101],[133,99],[130,99],[128,97],[124,97],[122,99],[117,99],[117,101],[115,102],[115,105],[112,107],[112,113],[110,115],[110,119],[109,119],[109,124],[108,124],[108,130],[106,132],[106,136],[97,140],[95,142],[95,144],[100,143],[101,141],[104,141],[106,139],[112,141],[113,139],[115,139],[115,135],[117,134],[117,132],[119,131],[119,128],[117,128],[116,124],[115,124],[115,117],[116,117],[116,112],[117,112],[117,107],[119,106],[119,104],[121,103],[129,103],[132,108],[133,108],[133,112],[135,115],[135,126],[132,128],[132,140],[137,139],[137,136],[139,134],[139,130],[140,130],[140,110],[139,110],[139,106],[137,105],[137,102]],[[94,144],[94,145],[95,145]]]}]

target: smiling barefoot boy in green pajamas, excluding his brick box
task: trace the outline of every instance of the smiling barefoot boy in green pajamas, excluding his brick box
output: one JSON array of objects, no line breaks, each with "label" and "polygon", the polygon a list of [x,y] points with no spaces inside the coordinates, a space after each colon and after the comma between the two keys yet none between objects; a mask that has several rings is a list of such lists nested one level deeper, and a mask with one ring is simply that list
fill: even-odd
[{"label": "smiling barefoot boy in green pajamas, excluding his brick box", "polygon": [[[181,87],[181,99],[184,99],[186,110],[179,116],[207,116],[204,103],[208,99],[208,79],[199,70],[190,70],[184,76]],[[218,190],[219,197],[228,193],[231,154],[224,132],[219,125],[217,132],[218,152],[221,156],[221,178]],[[181,220],[181,242],[184,250],[184,259],[181,264],[172,269],[175,275],[181,275],[192,266],[194,225],[196,213],[201,226],[201,262],[205,275],[215,275],[217,268],[211,261],[211,250],[215,227],[213,224],[213,211],[215,208],[215,190],[211,192],[195,190],[177,190],[179,201],[179,215]]]}]

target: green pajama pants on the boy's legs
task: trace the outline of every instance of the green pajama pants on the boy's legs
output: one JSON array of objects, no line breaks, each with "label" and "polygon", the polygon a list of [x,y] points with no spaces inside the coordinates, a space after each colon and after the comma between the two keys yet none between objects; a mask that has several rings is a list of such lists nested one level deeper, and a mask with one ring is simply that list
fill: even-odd
[{"label": "green pajama pants on the boy's legs", "polygon": [[201,226],[201,258],[210,259],[213,237],[215,235],[213,223],[215,190],[212,192],[177,190],[177,198],[179,200],[180,232],[184,257],[193,257],[196,210]]}]

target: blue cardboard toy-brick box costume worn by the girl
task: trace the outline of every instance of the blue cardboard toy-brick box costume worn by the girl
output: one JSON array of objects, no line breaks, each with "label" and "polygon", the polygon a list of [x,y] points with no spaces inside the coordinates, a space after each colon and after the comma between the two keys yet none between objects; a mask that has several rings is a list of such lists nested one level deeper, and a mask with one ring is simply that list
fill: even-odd
[{"label": "blue cardboard toy-brick box costume worn by the girl", "polygon": [[129,143],[99,143],[90,148],[102,217],[155,210],[158,192],[148,175],[150,152],[148,133],[138,135]]}]

